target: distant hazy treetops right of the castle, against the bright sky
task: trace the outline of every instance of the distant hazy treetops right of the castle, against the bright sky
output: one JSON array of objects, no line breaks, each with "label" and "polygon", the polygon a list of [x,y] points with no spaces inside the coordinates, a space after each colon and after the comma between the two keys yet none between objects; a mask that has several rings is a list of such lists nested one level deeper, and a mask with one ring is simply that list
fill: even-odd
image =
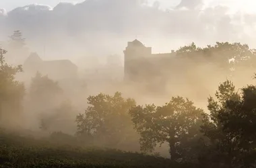
[{"label": "distant hazy treetops right of the castle, against the bright sky", "polygon": [[[249,48],[247,44],[239,42],[216,42],[214,46],[207,45],[204,48],[199,48],[194,42],[189,46],[183,46],[176,51],[180,56],[193,56],[190,61],[197,61],[197,58],[207,58],[205,61],[214,62],[224,75],[229,75],[230,69],[239,69],[241,66],[249,65],[255,67],[251,60],[255,62],[256,52]],[[201,63],[205,63],[204,61]]]}]

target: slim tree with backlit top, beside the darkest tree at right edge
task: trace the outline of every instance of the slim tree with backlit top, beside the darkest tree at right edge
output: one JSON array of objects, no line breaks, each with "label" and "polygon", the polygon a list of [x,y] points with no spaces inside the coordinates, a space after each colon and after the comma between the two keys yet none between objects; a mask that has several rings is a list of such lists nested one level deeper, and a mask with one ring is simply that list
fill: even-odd
[{"label": "slim tree with backlit top, beside the darkest tree at right edge", "polygon": [[[218,101],[214,100],[214,97],[210,96],[208,98],[207,108],[210,111],[209,115],[205,115],[203,124],[201,126],[202,132],[206,137],[210,139],[210,145],[207,146],[210,153],[214,151],[214,154],[208,159],[212,160],[214,158],[218,163],[225,163],[226,165],[231,165],[232,162],[232,152],[234,146],[232,146],[232,138],[225,134],[223,130],[222,123],[220,122],[221,111],[226,108],[226,101],[229,99],[238,99],[238,93],[235,90],[234,84],[231,81],[225,81],[218,87],[216,91],[216,97]],[[210,154],[205,154],[203,157],[208,157]]]}]

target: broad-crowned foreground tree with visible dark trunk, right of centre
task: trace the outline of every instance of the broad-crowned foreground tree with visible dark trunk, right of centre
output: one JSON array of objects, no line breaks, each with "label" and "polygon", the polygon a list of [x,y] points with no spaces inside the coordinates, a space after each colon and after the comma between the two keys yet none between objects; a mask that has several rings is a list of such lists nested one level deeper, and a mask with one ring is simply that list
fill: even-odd
[{"label": "broad-crowned foreground tree with visible dark trunk, right of centre", "polygon": [[152,152],[158,143],[168,142],[172,161],[185,161],[195,154],[193,144],[201,137],[203,110],[189,99],[172,97],[164,106],[137,106],[130,114],[141,135],[141,151]]}]

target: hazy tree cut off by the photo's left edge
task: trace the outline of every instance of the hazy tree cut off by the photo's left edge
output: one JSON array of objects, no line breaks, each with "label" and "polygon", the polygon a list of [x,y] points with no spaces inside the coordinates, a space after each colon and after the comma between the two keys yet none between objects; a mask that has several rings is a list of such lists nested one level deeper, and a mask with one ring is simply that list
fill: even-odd
[{"label": "hazy tree cut off by the photo's left edge", "polygon": [[18,117],[25,94],[23,83],[15,81],[15,75],[22,72],[22,66],[7,65],[6,53],[6,50],[0,48],[0,122],[7,121],[7,116]]}]

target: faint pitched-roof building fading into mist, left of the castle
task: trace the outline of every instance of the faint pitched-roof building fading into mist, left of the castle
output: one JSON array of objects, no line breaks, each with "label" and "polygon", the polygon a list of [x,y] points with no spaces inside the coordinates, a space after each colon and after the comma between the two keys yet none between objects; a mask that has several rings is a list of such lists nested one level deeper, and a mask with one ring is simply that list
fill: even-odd
[{"label": "faint pitched-roof building fading into mist, left of the castle", "polygon": [[24,73],[34,76],[36,71],[56,81],[77,78],[77,66],[70,60],[42,60],[32,52],[24,62]]}]

